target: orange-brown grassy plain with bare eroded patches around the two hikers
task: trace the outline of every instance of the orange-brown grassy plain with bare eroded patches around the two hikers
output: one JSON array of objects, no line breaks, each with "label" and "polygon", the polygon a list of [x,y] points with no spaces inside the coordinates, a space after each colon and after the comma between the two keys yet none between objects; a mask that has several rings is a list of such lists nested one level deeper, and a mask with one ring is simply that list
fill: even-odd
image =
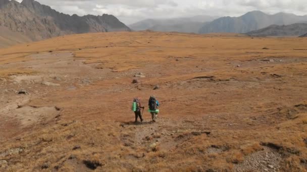
[{"label": "orange-brown grassy plain with bare eroded patches around the two hikers", "polygon": [[[0,49],[0,169],[306,171],[306,46],[135,32]],[[134,123],[150,95],[158,122]]]}]

